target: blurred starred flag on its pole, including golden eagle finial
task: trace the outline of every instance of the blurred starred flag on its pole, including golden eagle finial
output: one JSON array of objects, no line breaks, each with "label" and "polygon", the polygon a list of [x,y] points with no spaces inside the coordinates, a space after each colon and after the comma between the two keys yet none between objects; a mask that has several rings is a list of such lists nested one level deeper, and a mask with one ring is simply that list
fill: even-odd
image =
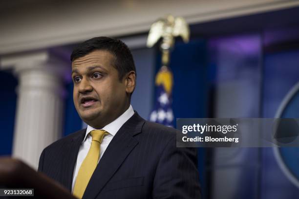
[{"label": "blurred starred flag on its pole, including golden eagle finial", "polygon": [[160,38],[160,50],[162,52],[162,67],[155,78],[156,100],[149,120],[166,126],[173,126],[172,112],[172,85],[173,75],[169,68],[170,51],[174,46],[174,38],[181,36],[185,43],[189,41],[190,29],[182,17],[168,15],[154,22],[149,30],[147,46],[152,47]]}]

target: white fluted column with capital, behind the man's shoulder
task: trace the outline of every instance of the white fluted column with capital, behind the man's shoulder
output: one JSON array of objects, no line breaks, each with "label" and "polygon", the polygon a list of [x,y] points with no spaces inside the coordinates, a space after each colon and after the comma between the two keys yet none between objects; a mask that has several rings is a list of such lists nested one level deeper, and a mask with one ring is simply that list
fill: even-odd
[{"label": "white fluted column with capital, behind the man's shoulder", "polygon": [[13,157],[38,167],[40,154],[62,135],[66,64],[47,52],[1,60],[19,78]]}]

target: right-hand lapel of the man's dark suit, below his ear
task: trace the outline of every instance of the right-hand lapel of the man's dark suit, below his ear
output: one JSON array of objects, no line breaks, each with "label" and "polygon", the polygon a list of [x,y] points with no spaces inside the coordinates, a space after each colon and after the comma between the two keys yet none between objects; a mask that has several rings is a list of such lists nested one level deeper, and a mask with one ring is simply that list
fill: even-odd
[{"label": "right-hand lapel of the man's dark suit, below his ear", "polygon": [[116,133],[89,180],[83,199],[94,199],[101,192],[128,154],[138,144],[138,140],[134,136],[141,133],[144,122],[145,120],[135,112]]}]

